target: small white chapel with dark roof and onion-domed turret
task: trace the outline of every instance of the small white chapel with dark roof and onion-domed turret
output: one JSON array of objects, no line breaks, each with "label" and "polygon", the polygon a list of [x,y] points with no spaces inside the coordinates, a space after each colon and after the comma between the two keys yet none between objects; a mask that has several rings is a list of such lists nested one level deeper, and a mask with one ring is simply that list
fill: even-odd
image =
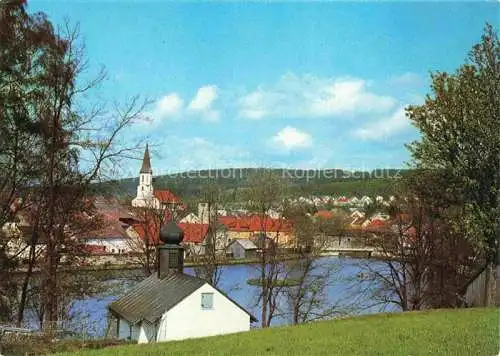
[{"label": "small white chapel with dark roof and onion-domed turret", "polygon": [[183,273],[183,231],[166,224],[159,268],[108,306],[109,335],[138,343],[182,340],[250,330],[248,311],[203,279]]}]

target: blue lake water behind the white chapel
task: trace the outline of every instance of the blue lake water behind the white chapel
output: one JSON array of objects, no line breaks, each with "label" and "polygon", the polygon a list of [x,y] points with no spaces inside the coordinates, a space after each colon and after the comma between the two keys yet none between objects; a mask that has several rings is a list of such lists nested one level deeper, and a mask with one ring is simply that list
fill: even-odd
[{"label": "blue lake water behind the white chapel", "polygon": [[[377,260],[363,260],[354,258],[322,257],[315,261],[318,265],[315,273],[328,275],[325,288],[325,303],[335,305],[338,316],[344,314],[367,314],[377,312],[396,311],[394,306],[380,305],[373,297],[376,283],[358,278],[359,273],[370,268],[383,268],[384,264]],[[261,309],[257,305],[259,287],[247,284],[247,280],[257,278],[259,275],[256,265],[230,265],[223,266],[221,280],[218,287],[260,319]],[[192,268],[185,268],[185,273],[194,274]],[[111,278],[104,283],[103,290],[107,292],[83,300],[73,302],[72,311],[76,315],[74,325],[86,330],[92,335],[104,335],[107,326],[107,305],[125,293],[140,279],[124,278],[123,276]],[[282,296],[278,304],[282,311],[286,311],[288,298]],[[283,325],[291,322],[291,315],[277,316],[271,326]],[[73,324],[73,322],[72,322]],[[254,327],[259,327],[260,322]]]}]

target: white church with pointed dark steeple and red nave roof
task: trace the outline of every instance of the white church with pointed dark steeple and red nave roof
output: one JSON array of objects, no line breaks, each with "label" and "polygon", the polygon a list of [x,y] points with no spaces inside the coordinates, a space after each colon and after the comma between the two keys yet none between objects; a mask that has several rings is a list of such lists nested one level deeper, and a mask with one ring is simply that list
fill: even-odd
[{"label": "white church with pointed dark steeple and red nave roof", "polygon": [[142,159],[141,170],[139,171],[139,185],[137,195],[132,200],[133,207],[152,208],[157,210],[175,211],[182,210],[182,201],[168,189],[154,189],[153,170],[151,168],[151,157],[149,147],[146,145],[144,157]]}]

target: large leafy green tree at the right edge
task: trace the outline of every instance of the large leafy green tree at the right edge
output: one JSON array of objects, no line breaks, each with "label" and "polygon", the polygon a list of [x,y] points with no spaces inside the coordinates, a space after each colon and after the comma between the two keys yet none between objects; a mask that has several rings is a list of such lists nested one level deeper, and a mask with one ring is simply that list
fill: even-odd
[{"label": "large leafy green tree at the right edge", "polygon": [[465,223],[463,236],[491,271],[500,239],[500,45],[493,27],[486,25],[466,64],[431,78],[433,95],[407,109],[422,136],[408,147],[420,172],[449,178],[440,189],[453,191],[461,210],[450,227]]}]

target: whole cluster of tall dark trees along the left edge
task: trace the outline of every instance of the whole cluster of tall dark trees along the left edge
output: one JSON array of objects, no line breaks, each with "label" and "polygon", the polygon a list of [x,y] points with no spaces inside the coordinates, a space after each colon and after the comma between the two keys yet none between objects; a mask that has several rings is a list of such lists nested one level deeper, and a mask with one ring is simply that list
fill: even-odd
[{"label": "whole cluster of tall dark trees along the left edge", "polygon": [[[18,322],[38,263],[31,252],[38,238],[45,238],[38,297],[50,328],[61,310],[61,269],[78,263],[76,237],[95,227],[92,183],[112,174],[120,159],[134,153],[137,146],[120,142],[119,136],[140,118],[147,102],[134,98],[112,111],[84,103],[84,94],[104,74],[81,80],[87,62],[77,28],[54,29],[43,14],[28,16],[23,1],[2,3],[0,14],[2,46],[6,41],[0,55],[0,222],[12,221],[24,205],[30,207],[33,233]],[[22,205],[13,204],[19,198]]]}]

